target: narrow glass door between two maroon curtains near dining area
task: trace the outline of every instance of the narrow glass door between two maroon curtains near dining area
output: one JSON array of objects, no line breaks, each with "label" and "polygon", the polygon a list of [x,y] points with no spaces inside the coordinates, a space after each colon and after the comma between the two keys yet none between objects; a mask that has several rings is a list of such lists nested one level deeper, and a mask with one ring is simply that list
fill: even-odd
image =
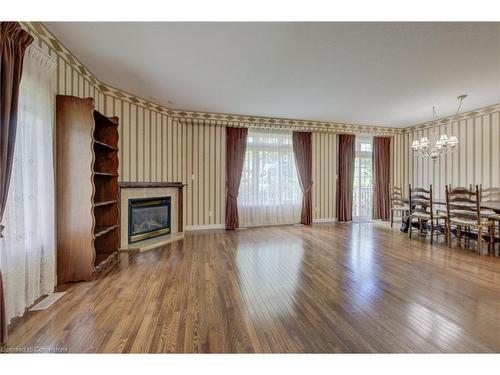
[{"label": "narrow glass door between two maroon curtains near dining area", "polygon": [[372,137],[356,136],[353,220],[371,220],[373,207]]}]

